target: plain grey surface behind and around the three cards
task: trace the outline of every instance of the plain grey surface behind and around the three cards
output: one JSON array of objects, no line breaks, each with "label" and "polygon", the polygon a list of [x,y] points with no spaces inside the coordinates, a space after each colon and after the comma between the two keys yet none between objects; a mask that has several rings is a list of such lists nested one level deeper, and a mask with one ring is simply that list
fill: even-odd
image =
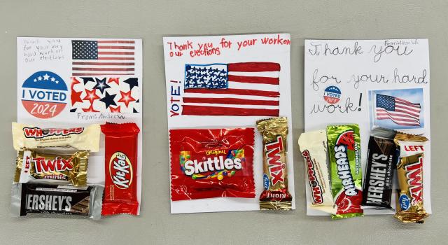
[{"label": "plain grey surface behind and around the three cards", "polygon": [[[448,1],[0,1],[0,244],[447,244]],[[294,141],[303,131],[304,38],[429,38],[433,216],[343,221],[307,217],[304,164],[294,145],[297,210],[169,214],[162,36],[291,34]],[[11,218],[16,120],[16,37],[124,37],[144,42],[144,170],[141,216]],[[158,105],[158,106],[154,106]]]}]

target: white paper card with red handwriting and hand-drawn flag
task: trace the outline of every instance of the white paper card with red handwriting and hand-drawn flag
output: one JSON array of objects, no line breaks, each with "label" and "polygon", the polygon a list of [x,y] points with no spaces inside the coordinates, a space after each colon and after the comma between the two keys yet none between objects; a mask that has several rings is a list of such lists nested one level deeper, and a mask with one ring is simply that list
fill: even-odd
[{"label": "white paper card with red handwriting and hand-drawn flag", "polygon": [[[165,37],[165,76],[167,83],[168,129],[176,128],[226,128],[255,127],[255,121],[273,116],[288,117],[292,129],[290,98],[290,35],[258,34],[239,36],[188,36]],[[268,66],[279,67],[279,71],[262,69],[256,64],[257,72],[247,70],[252,62],[266,62]],[[237,67],[237,68],[235,68]],[[199,82],[192,81],[189,73],[204,69],[225,71],[223,87],[230,91],[248,91],[246,94],[216,94],[188,92],[188,88],[206,87],[210,77],[202,76]],[[253,75],[253,73],[257,73]],[[232,76],[262,76],[276,79],[278,85],[232,82]],[[260,90],[262,93],[254,92]],[[222,99],[269,99],[265,93],[279,93],[274,98],[278,105],[226,104]],[[194,98],[194,99],[191,99]],[[200,98],[200,100],[198,100]],[[208,99],[214,99],[210,103]],[[225,115],[225,116],[224,116]],[[255,198],[220,197],[200,200],[171,202],[172,214],[259,210],[258,197],[262,192],[262,141],[255,130],[254,178]],[[292,135],[288,134],[288,147],[292,148]],[[293,153],[288,154],[288,188],[294,193]],[[295,199],[293,198],[293,209]]]}]

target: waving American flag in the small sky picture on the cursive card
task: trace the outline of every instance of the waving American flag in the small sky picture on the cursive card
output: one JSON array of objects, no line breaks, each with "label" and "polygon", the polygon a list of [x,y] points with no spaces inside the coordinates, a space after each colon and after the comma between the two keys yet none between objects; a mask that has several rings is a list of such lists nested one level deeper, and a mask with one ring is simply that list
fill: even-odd
[{"label": "waving American flag in the small sky picture on the cursive card", "polygon": [[397,125],[420,126],[420,104],[384,94],[377,94],[376,99],[378,120],[390,119]]}]

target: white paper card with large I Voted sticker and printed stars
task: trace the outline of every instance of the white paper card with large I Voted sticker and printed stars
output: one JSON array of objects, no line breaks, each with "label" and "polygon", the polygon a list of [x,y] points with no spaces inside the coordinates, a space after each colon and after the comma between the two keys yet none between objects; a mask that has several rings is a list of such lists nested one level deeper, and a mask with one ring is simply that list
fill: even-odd
[{"label": "white paper card with large I Voted sticker and printed stars", "polygon": [[[18,123],[137,123],[143,132],[141,48],[141,39],[18,37]],[[141,139],[140,133],[139,173]],[[92,184],[104,184],[104,135],[100,142],[99,152],[89,157]],[[140,204],[140,175],[137,184]]]}]

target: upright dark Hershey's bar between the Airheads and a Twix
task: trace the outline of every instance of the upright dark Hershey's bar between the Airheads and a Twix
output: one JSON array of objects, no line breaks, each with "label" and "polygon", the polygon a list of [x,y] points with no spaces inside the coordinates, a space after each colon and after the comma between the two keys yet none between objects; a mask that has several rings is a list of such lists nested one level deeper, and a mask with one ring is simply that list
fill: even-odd
[{"label": "upright dark Hershey's bar between the Airheads and a Twix", "polygon": [[393,172],[397,151],[395,130],[377,127],[370,132],[363,185],[363,209],[392,209]]}]

